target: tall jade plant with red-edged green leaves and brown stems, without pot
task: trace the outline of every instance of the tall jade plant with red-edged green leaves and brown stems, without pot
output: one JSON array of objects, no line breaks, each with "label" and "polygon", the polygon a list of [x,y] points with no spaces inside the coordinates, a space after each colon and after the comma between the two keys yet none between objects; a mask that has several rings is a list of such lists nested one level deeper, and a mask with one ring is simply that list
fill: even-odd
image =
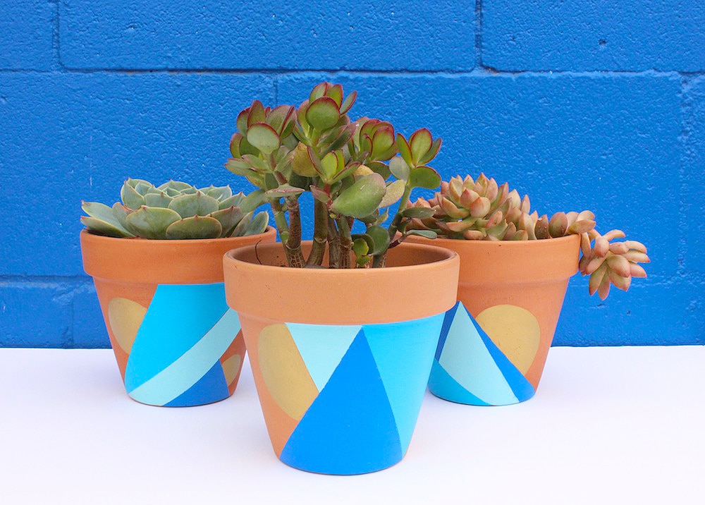
[{"label": "tall jade plant with red-edged green leaves and brown stems, without pot", "polygon": [[[407,235],[436,235],[408,225],[433,214],[411,207],[410,193],[441,184],[428,166],[441,139],[426,128],[407,139],[388,121],[353,121],[348,111],[356,97],[346,97],[339,84],[320,83],[298,108],[272,109],[255,100],[238,115],[226,168],[257,186],[250,196],[258,204],[271,206],[290,267],[319,267],[326,250],[331,268],[384,267],[387,250]],[[303,193],[314,200],[307,256],[301,247]],[[360,233],[353,231],[356,220]]]}]

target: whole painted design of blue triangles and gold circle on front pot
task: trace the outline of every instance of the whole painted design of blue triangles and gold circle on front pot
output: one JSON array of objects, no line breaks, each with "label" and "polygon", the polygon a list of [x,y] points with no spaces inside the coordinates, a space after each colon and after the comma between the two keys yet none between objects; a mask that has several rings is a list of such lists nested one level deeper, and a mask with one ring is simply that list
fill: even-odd
[{"label": "whole painted design of blue triangles and gold circle on front pot", "polygon": [[398,463],[411,441],[442,324],[439,314],[389,324],[262,329],[257,366],[278,408],[295,421],[283,434],[281,461],[336,475]]}]

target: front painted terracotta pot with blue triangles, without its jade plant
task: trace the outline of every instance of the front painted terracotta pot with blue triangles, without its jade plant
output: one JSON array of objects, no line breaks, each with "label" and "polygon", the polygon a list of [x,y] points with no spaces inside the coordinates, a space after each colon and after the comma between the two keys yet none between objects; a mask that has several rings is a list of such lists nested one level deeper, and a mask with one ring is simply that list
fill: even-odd
[{"label": "front painted terracotta pot with blue triangles, without its jade plant", "polygon": [[277,243],[223,262],[276,456],[338,475],[398,463],[455,303],[458,256],[403,245],[382,269],[295,269]]}]

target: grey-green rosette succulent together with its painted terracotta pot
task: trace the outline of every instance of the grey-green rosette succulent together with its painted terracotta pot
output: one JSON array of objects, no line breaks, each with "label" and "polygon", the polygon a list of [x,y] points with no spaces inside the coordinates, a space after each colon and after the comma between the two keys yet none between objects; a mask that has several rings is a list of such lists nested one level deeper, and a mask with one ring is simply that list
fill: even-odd
[{"label": "grey-green rosette succulent together with its painted terracotta pot", "polygon": [[83,267],[93,277],[128,395],[157,406],[227,398],[245,342],[228,309],[222,257],[274,242],[266,212],[229,186],[128,179],[121,202],[83,202]]}]

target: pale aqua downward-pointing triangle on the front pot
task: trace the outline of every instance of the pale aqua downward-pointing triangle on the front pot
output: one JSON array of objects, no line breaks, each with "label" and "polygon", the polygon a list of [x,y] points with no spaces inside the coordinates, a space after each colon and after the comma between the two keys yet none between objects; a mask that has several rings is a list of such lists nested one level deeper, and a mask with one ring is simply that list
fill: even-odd
[{"label": "pale aqua downward-pointing triangle on the front pot", "polygon": [[323,389],[362,328],[329,324],[286,323],[319,391]]}]

